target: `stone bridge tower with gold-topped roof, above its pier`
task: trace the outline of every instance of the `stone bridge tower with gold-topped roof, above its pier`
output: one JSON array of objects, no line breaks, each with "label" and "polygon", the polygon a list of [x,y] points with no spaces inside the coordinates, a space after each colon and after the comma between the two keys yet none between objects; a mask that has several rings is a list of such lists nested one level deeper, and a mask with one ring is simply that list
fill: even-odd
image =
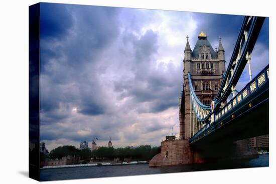
[{"label": "stone bridge tower with gold-topped roof, above its pier", "polygon": [[219,39],[218,49],[212,48],[207,36],[201,32],[193,51],[190,48],[189,37],[184,51],[184,84],[179,103],[180,139],[189,139],[190,132],[190,89],[188,72],[198,99],[205,105],[210,105],[216,97],[225,72],[224,49]]}]

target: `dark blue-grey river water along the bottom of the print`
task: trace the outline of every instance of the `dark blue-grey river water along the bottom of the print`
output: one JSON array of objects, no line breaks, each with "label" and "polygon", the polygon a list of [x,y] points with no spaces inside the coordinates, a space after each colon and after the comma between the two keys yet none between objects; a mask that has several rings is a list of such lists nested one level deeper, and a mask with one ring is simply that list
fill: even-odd
[{"label": "dark blue-grey river water along the bottom of the print", "polygon": [[149,164],[106,165],[88,167],[50,168],[41,169],[41,180],[61,180],[93,177],[112,177],[143,174],[159,174],[171,172],[263,167],[269,164],[269,155],[262,154],[250,160],[223,161],[217,163],[186,164],[150,168]]}]

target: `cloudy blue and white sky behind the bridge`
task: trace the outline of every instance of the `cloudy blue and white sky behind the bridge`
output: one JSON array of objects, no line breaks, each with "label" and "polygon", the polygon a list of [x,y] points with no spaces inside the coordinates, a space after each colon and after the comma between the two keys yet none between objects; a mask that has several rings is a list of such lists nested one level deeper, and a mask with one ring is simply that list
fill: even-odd
[{"label": "cloudy blue and white sky behind the bridge", "polygon": [[[179,134],[186,37],[218,38],[226,67],[243,16],[41,4],[40,139],[61,145],[159,146]],[[268,64],[268,18],[252,52],[253,77]],[[237,90],[249,82],[248,66]]]}]

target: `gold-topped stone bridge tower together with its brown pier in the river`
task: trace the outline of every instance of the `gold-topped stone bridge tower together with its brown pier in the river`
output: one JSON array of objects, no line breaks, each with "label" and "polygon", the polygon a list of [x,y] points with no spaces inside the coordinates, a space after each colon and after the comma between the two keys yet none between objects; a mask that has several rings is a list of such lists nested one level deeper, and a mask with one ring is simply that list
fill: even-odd
[{"label": "gold-topped stone bridge tower together with its brown pier in the river", "polygon": [[[203,163],[220,159],[252,158],[256,151],[248,148],[247,140],[208,145],[206,149],[191,147],[190,132],[190,89],[188,72],[192,79],[193,89],[198,99],[205,105],[210,105],[216,97],[225,72],[224,49],[219,39],[218,49],[213,49],[207,36],[201,32],[193,50],[189,38],[184,56],[184,84],[179,99],[180,139],[161,142],[161,152],[155,155],[150,166]],[[209,147],[212,146],[212,147]],[[218,154],[214,154],[218,153]]]}]

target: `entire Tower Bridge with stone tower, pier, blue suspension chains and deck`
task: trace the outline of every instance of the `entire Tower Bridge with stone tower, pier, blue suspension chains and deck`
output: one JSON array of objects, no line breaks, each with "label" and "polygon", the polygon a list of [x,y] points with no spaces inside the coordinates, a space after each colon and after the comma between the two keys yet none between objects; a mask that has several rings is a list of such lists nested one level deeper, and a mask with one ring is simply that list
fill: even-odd
[{"label": "entire Tower Bridge with stone tower, pier, blue suspension chains and deck", "polygon": [[[150,166],[256,155],[246,138],[268,134],[269,66],[240,92],[235,87],[250,62],[263,22],[263,17],[244,17],[227,70],[221,38],[214,50],[202,31],[191,50],[187,36],[179,101],[180,139],[163,141],[161,153]],[[233,98],[227,102],[229,95]]]}]

